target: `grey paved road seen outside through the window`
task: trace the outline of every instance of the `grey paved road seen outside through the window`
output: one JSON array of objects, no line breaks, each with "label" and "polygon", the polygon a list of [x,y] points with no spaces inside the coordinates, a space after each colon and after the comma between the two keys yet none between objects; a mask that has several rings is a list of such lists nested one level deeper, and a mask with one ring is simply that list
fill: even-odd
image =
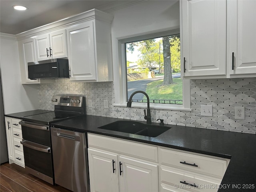
[{"label": "grey paved road seen outside through the window", "polygon": [[[178,78],[180,77],[180,73],[178,74],[173,74],[172,78]],[[157,81],[157,80],[163,80],[164,76],[159,76],[156,78],[150,78],[150,79],[142,79],[142,80],[137,80],[137,81],[128,81],[127,82],[127,87],[128,87],[128,98],[130,98],[130,95],[134,92],[134,91],[146,91],[147,88],[147,84],[152,82],[152,81]],[[141,93],[137,93],[133,96],[132,99],[138,99],[141,100],[144,97],[144,94]]]}]

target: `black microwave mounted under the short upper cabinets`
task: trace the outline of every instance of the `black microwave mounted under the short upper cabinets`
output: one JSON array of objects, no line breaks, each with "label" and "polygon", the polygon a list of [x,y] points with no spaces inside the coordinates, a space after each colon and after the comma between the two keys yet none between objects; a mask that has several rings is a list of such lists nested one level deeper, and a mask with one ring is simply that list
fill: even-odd
[{"label": "black microwave mounted under the short upper cabinets", "polygon": [[28,62],[28,78],[69,78],[68,59]]}]

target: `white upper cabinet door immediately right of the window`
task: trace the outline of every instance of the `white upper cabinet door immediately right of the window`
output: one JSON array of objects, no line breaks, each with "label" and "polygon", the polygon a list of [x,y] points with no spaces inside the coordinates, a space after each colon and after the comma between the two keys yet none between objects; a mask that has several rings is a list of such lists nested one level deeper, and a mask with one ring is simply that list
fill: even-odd
[{"label": "white upper cabinet door immediately right of the window", "polygon": [[182,0],[181,12],[184,76],[226,75],[226,0]]}]

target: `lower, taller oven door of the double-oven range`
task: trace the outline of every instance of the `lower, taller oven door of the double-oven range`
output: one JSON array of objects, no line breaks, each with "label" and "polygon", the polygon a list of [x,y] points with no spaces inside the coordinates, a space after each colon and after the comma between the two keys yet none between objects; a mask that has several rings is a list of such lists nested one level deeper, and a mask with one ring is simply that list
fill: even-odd
[{"label": "lower, taller oven door of the double-oven range", "polygon": [[26,170],[53,184],[52,154],[49,146],[22,139]]}]

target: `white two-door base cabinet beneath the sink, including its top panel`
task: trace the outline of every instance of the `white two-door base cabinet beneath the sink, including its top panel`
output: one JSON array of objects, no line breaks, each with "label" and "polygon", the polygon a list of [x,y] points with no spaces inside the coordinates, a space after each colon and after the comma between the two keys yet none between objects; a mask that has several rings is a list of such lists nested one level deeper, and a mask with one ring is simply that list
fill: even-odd
[{"label": "white two-door base cabinet beneath the sink, including its top panel", "polygon": [[[94,148],[94,138],[101,140],[97,144],[99,148]],[[158,192],[158,164],[133,157],[134,154],[128,156],[125,149],[116,151],[114,148],[113,151],[106,138],[116,142],[116,146],[127,144],[127,147],[137,152],[144,145],[138,143],[136,148],[136,142],[88,134],[90,191]],[[144,146],[147,148],[147,145]]]}]

